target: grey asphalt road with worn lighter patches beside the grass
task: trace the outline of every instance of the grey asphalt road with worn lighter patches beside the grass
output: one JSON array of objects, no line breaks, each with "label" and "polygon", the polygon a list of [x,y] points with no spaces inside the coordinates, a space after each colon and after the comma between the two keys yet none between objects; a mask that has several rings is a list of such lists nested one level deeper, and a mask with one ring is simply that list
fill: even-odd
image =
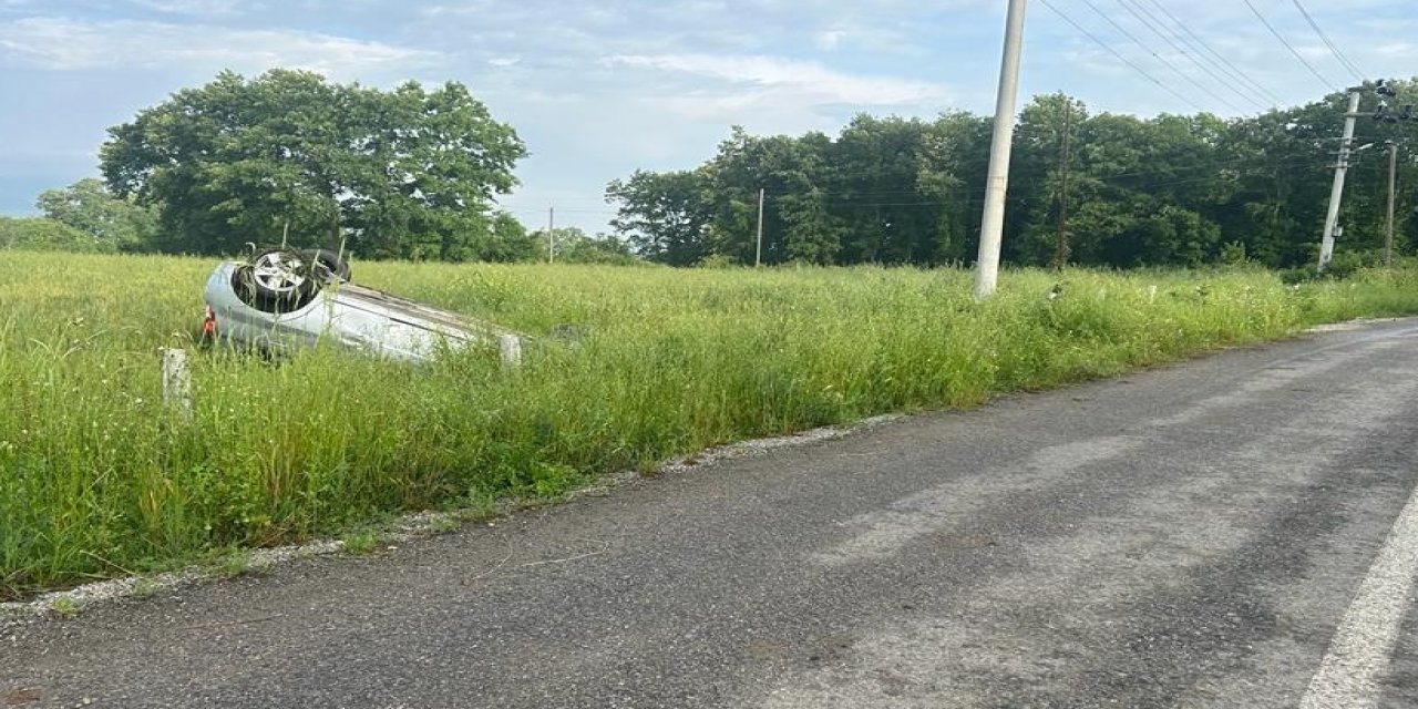
[{"label": "grey asphalt road with worn lighter patches beside the grass", "polygon": [[0,705],[1418,706],[1418,320],[0,631]]}]

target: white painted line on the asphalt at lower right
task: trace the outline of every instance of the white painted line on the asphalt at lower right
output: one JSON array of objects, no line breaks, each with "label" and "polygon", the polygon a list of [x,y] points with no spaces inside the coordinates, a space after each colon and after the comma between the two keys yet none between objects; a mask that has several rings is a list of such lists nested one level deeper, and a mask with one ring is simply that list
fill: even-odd
[{"label": "white painted line on the asphalt at lower right", "polygon": [[1388,668],[1415,579],[1418,489],[1388,530],[1384,547],[1300,699],[1300,709],[1360,709],[1378,703],[1378,678]]}]

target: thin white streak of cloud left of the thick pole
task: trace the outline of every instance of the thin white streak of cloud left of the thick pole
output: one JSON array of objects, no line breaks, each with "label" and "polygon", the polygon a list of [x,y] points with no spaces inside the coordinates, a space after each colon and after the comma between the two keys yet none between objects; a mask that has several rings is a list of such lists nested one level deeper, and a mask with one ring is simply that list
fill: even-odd
[{"label": "thin white streak of cloud left of the thick pole", "polygon": [[615,55],[611,65],[641,67],[769,89],[787,89],[817,104],[871,106],[937,104],[950,98],[940,84],[898,77],[854,75],[822,64],[761,55]]}]

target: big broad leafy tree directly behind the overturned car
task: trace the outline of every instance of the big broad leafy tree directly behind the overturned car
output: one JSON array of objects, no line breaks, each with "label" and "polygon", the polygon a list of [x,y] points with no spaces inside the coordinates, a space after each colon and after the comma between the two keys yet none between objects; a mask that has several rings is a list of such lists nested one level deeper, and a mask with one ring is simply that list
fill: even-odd
[{"label": "big broad leafy tree directly behind the overturned car", "polygon": [[99,152],[113,193],[157,208],[163,250],[288,235],[397,258],[462,255],[461,235],[495,233],[493,196],[525,155],[462,84],[384,92],[288,69],[179,91]]}]

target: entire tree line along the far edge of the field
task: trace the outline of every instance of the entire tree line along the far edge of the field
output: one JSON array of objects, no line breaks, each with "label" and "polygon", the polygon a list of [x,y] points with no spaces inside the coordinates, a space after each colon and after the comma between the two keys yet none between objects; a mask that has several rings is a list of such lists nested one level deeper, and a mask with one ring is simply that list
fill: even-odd
[{"label": "entire tree line along the far edge of the field", "polygon": [[[1384,240],[1387,142],[1398,145],[1400,252],[1418,248],[1418,84],[1360,119],[1336,265]],[[1377,108],[1374,86],[1364,106]],[[1343,94],[1256,116],[1092,112],[1035,96],[1014,132],[1003,258],[1102,267],[1314,261],[1347,108]],[[968,264],[991,121],[855,116],[834,138],[735,128],[688,170],[613,180],[614,234],[553,233],[563,261]],[[499,208],[526,146],[458,82],[390,91],[303,71],[223,72],[109,129],[102,180],[48,190],[41,218],[0,217],[0,250],[235,254],[245,244],[363,258],[535,261],[547,234]],[[761,218],[760,218],[760,191]],[[761,242],[759,234],[761,233]]]}]

